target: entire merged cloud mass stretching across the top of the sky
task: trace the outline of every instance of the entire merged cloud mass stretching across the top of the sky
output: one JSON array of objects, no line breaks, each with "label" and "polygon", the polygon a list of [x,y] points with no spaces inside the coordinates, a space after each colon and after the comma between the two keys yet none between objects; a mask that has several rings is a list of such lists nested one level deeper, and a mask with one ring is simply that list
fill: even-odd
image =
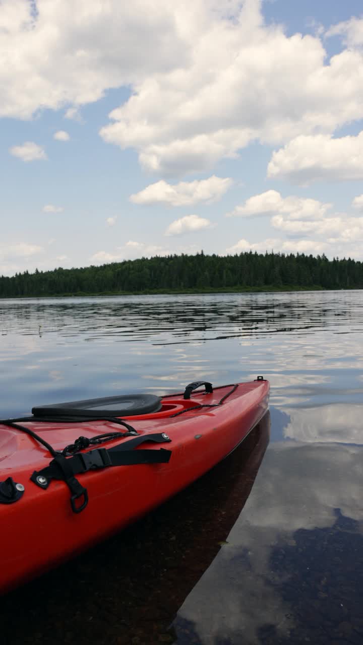
[{"label": "entire merged cloud mass stretching across the top of the sky", "polygon": [[[39,1],[34,12],[28,0],[3,0],[1,115],[63,108],[78,119],[80,106],[128,86],[101,136],[135,148],[147,170],[175,176],[205,172],[254,140],[281,145],[362,117],[363,52],[327,59],[319,34],[265,25],[260,0],[77,6]],[[358,22],[349,25],[356,33]]]}]

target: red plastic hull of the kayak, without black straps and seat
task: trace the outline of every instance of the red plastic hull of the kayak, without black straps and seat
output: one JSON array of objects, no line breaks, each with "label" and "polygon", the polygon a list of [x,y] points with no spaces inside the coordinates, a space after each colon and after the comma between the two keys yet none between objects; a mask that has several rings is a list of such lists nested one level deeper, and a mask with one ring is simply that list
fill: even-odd
[{"label": "red plastic hull of the kayak, without black straps and seat", "polygon": [[[70,491],[64,481],[50,482],[47,490],[30,481],[35,470],[48,466],[50,453],[21,431],[0,426],[0,481],[11,476],[25,487],[19,501],[0,504],[0,592],[105,539],[210,470],[260,421],[267,410],[268,397],[268,381],[241,383],[234,390],[233,386],[223,386],[214,388],[213,393],[193,393],[189,401],[184,401],[182,395],[162,397],[160,412],[130,417],[127,422],[139,435],[167,433],[171,442],[161,446],[147,443],[142,448],[167,448],[172,451],[170,461],[115,466],[78,475],[89,499],[81,513],[72,512]],[[198,407],[205,404],[211,407]],[[114,424],[103,421],[32,422],[26,426],[56,450],[80,435],[92,437],[115,431]],[[120,441],[130,438],[104,445],[112,448]]]}]

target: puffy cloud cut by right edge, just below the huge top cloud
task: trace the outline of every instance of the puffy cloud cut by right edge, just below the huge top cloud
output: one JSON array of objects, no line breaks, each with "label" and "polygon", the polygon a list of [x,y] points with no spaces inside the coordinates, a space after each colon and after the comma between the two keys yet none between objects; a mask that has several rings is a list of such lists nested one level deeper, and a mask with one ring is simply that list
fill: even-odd
[{"label": "puffy cloud cut by right edge, just below the huge top cloud", "polygon": [[273,153],[267,175],[298,184],[363,179],[363,130],[337,139],[300,135]]}]

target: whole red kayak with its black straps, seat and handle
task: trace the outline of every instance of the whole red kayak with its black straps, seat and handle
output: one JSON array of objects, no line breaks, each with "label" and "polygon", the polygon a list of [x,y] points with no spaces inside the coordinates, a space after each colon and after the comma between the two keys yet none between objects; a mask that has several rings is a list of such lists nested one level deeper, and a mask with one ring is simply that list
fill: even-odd
[{"label": "whole red kayak with its black straps, seat and handle", "polygon": [[180,395],[38,406],[0,421],[0,591],[185,488],[245,439],[268,399],[263,377],[218,388],[199,381]]}]

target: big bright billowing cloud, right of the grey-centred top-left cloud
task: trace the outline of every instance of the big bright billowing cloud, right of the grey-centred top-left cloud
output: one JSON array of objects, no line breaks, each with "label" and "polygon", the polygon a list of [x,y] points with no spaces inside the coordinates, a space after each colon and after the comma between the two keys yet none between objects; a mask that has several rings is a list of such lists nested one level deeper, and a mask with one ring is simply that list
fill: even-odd
[{"label": "big bright billowing cloud, right of the grey-centred top-left cloud", "polygon": [[187,64],[138,83],[100,132],[135,148],[145,170],[203,172],[251,141],[284,144],[361,118],[362,52],[326,59],[318,35],[287,37],[264,24],[253,0],[234,21],[216,16],[209,3],[193,3],[188,21]]}]

